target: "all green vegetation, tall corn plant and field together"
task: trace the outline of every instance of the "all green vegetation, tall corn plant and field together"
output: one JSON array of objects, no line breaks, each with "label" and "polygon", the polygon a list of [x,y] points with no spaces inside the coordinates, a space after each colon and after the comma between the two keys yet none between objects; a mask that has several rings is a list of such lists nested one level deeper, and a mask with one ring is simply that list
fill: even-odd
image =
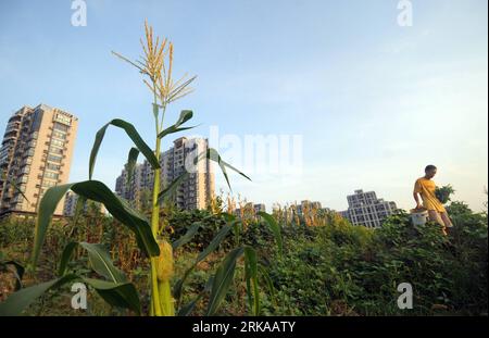
[{"label": "all green vegetation, tall corn plant and field together", "polygon": [[[164,128],[170,103],[188,95],[195,77],[172,78],[173,45],[146,26],[145,57],[131,62],[153,98],[154,149],[136,127],[118,118],[97,133],[88,180],[50,188],[36,220],[0,223],[0,315],[380,315],[487,313],[487,215],[453,202],[455,227],[449,237],[438,225],[411,225],[404,213],[377,230],[354,227],[338,214],[306,206],[275,215],[242,208],[224,212],[223,200],[208,211],[172,205],[185,172],[167,186],[160,181],[161,142],[190,129],[190,110]],[[139,154],[154,171],[154,186],[136,206],[93,180],[108,128],[123,129],[134,142],[129,173]],[[218,164],[214,149],[195,162]],[[129,175],[130,176],[130,175]],[[65,193],[78,195],[75,216],[52,221]],[[450,195],[450,193],[449,193]],[[97,208],[101,203],[111,217]],[[230,203],[229,203],[230,205]],[[25,268],[24,268],[25,267]],[[70,286],[89,287],[87,311],[73,310]],[[414,288],[414,309],[400,310],[397,286]]]}]

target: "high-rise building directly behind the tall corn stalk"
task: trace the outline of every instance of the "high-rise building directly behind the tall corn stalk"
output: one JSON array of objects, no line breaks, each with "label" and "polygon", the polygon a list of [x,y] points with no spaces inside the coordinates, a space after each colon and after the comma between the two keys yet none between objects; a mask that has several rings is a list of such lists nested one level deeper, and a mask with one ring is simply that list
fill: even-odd
[{"label": "high-rise building directly behind the tall corn stalk", "polygon": [[[180,137],[174,141],[174,146],[170,150],[161,154],[161,189],[167,187],[187,167],[192,168],[175,193],[175,204],[179,209],[205,209],[214,196],[214,173],[211,160],[203,158],[192,166],[193,160],[200,154],[206,153],[208,149],[206,139]],[[150,163],[145,161],[142,164],[136,165],[129,181],[127,170],[123,170],[115,183],[115,191],[135,204],[145,190],[152,191],[154,171]]]}]

